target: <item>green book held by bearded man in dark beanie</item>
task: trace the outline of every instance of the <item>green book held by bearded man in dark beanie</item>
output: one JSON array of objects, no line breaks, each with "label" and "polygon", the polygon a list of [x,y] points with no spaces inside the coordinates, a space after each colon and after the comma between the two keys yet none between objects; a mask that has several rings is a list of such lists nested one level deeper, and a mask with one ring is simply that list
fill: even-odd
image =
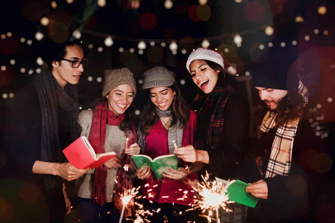
[{"label": "green book held by bearded man in dark beanie", "polygon": [[228,194],[229,201],[233,201],[238,204],[243,204],[254,208],[259,201],[259,198],[254,197],[251,193],[246,192],[246,187],[249,184],[240,180],[225,181],[220,178],[215,178],[219,183],[224,185],[224,194]]}]

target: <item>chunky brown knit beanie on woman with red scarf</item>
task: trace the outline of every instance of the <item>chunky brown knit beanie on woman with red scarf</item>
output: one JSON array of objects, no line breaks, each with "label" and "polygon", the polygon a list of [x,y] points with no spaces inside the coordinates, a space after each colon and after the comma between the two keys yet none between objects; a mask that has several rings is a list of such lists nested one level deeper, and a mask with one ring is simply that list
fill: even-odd
[{"label": "chunky brown knit beanie on woman with red scarf", "polygon": [[133,73],[128,68],[106,70],[104,72],[103,81],[103,96],[105,97],[110,91],[117,86],[127,84],[134,91],[134,98],[136,95],[136,81]]}]

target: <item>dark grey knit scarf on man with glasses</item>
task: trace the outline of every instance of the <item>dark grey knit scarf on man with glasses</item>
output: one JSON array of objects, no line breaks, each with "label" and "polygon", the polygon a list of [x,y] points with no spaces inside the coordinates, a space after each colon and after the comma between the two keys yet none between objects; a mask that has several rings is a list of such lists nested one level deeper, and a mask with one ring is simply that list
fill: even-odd
[{"label": "dark grey knit scarf on man with glasses", "polygon": [[[67,84],[63,89],[47,69],[43,74],[34,77],[35,86],[39,95],[42,113],[41,160],[45,162],[64,162],[64,154],[59,144],[58,110],[59,105],[71,113],[72,143],[80,136],[81,127],[77,123],[79,108],[77,104],[78,89],[76,85]],[[61,185],[62,179],[58,176],[44,175],[44,184],[47,190]]]}]

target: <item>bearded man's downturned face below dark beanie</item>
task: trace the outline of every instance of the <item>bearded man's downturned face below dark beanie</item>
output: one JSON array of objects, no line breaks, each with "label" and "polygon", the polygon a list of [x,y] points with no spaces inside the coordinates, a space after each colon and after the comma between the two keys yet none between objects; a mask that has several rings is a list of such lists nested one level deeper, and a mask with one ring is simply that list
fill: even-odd
[{"label": "bearded man's downturned face below dark beanie", "polygon": [[275,111],[280,100],[287,94],[286,90],[260,87],[256,87],[256,89],[258,90],[261,100],[266,103],[270,111]]}]

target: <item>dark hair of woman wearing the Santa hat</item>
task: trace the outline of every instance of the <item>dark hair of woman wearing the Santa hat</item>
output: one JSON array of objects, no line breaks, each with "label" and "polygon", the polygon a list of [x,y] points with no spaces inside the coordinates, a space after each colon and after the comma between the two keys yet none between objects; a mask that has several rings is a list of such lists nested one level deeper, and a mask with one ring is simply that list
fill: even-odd
[{"label": "dark hair of woman wearing the Santa hat", "polygon": [[[206,62],[207,65],[213,69],[214,71],[219,70],[218,79],[216,85],[220,86],[220,93],[223,93],[227,85],[231,85],[233,88],[236,87],[236,80],[232,76],[226,74],[221,67],[221,65],[208,61],[208,60],[201,60],[202,62]],[[200,89],[197,89],[197,94],[195,96],[194,102],[202,102],[203,99],[206,97],[206,94]]]}]

